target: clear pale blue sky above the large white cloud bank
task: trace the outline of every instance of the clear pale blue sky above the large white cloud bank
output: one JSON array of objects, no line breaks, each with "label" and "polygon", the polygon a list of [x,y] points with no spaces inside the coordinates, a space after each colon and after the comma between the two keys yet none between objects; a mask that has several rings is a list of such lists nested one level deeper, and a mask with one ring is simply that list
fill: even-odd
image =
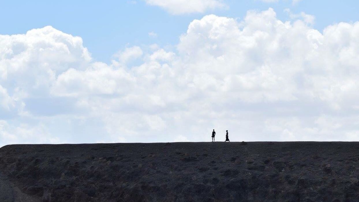
[{"label": "clear pale blue sky above the large white cloud bank", "polygon": [[[322,31],[327,25],[338,22],[355,22],[359,19],[358,1],[309,1],[293,4],[290,0],[274,3],[260,0],[225,0],[224,9],[209,9],[203,13],[171,15],[158,6],[145,1],[1,1],[1,34],[25,33],[46,25],[81,36],[84,45],[95,60],[109,62],[112,55],[127,46],[157,43],[173,46],[193,19],[206,14],[230,18],[243,18],[248,10],[274,8],[278,18],[290,20],[284,9],[293,13],[305,12],[316,17],[314,28]],[[157,33],[156,38],[149,32]]]}]

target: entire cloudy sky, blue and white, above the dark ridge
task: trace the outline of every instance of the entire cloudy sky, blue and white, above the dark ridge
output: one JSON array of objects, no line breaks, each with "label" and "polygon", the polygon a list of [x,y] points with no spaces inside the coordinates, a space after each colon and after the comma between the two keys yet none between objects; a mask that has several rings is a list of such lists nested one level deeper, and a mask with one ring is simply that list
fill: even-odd
[{"label": "entire cloudy sky, blue and white, above the dark ridge", "polygon": [[0,146],[359,141],[358,1],[1,1]]}]

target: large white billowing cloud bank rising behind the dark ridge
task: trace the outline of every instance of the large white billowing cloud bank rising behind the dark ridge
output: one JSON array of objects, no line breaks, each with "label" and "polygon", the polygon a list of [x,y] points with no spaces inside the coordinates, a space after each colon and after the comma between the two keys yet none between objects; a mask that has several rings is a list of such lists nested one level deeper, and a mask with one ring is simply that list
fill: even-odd
[{"label": "large white billowing cloud bank rising behind the dark ridge", "polygon": [[176,51],[128,47],[111,64],[50,26],[0,35],[0,145],[209,141],[213,128],[219,140],[358,141],[359,22],[320,32],[296,18],[206,15]]}]

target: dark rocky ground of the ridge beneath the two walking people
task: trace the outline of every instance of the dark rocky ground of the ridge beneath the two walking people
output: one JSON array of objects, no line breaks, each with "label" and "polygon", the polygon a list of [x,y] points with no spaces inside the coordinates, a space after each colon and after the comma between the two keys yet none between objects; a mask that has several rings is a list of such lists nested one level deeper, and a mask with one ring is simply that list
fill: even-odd
[{"label": "dark rocky ground of the ridge beneath the two walking people", "polygon": [[358,159],[358,142],[7,145],[0,199],[355,202]]}]

